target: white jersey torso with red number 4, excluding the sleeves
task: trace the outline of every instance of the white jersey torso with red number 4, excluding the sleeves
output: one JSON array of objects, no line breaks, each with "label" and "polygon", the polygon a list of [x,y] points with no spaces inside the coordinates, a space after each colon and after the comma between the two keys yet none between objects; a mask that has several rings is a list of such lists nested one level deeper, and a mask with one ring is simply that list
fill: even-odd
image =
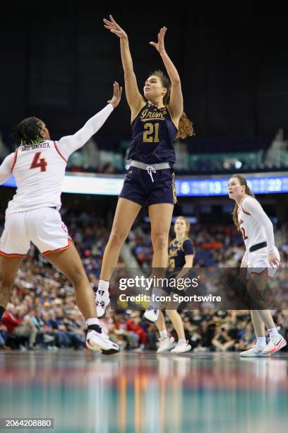
[{"label": "white jersey torso with red number 4, excluding the sleeves", "polygon": [[18,147],[12,166],[17,190],[6,214],[40,207],[60,209],[66,164],[66,158],[52,140]]}]

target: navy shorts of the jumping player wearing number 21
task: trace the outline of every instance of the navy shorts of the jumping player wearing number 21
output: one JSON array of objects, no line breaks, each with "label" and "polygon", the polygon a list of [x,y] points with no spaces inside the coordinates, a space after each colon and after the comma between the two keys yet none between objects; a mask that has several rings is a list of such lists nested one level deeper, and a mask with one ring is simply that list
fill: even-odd
[{"label": "navy shorts of the jumping player wearing number 21", "polygon": [[173,168],[164,168],[152,173],[154,182],[147,170],[129,167],[119,198],[126,198],[141,206],[147,201],[150,204],[176,204],[176,188]]}]

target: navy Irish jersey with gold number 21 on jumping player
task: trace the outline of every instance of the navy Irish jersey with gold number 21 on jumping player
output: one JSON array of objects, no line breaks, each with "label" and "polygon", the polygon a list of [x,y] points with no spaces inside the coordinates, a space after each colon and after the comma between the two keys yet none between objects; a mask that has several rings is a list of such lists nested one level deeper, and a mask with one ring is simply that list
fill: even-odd
[{"label": "navy Irish jersey with gold number 21 on jumping player", "polygon": [[178,129],[169,105],[157,108],[146,103],[131,123],[132,142],[128,159],[146,164],[175,163],[174,142]]}]

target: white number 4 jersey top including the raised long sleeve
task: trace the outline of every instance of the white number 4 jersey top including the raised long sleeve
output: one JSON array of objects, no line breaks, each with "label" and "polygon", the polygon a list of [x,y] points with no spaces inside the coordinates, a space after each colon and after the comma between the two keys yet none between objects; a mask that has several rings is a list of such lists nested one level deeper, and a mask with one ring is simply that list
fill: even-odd
[{"label": "white number 4 jersey top including the raised long sleeve", "polygon": [[62,137],[59,142],[46,140],[19,146],[13,154],[6,156],[0,166],[0,184],[11,174],[17,184],[16,194],[8,203],[6,215],[40,207],[56,207],[59,210],[68,157],[88,142],[112,111],[112,105],[108,104],[76,134]]}]

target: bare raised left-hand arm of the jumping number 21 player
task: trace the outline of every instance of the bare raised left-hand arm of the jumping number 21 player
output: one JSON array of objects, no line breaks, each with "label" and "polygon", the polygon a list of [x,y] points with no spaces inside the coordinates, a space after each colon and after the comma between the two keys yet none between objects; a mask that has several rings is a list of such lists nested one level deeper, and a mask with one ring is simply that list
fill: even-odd
[{"label": "bare raised left-hand arm of the jumping number 21 player", "polygon": [[125,78],[125,92],[127,102],[131,110],[131,118],[133,120],[135,115],[140,110],[141,105],[145,105],[145,100],[138,89],[136,75],[133,70],[131,52],[129,49],[128,36],[123,28],[116,23],[112,15],[110,15],[109,18],[110,21],[106,18],[103,19],[104,28],[107,28],[110,30],[110,32],[114,33],[120,38],[121,60]]}]

